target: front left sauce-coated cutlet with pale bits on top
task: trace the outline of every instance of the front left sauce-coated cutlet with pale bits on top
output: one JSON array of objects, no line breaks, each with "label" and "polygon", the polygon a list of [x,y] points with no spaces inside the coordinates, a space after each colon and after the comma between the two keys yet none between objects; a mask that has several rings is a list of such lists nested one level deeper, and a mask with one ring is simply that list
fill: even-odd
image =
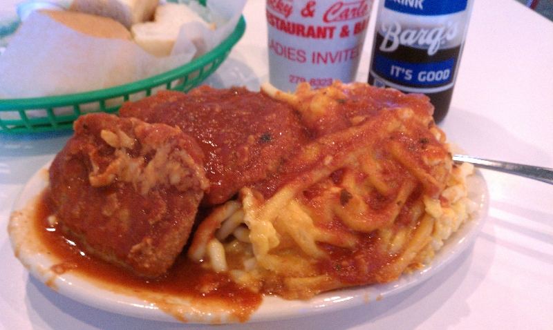
[{"label": "front left sauce-coated cutlet with pale bits on top", "polygon": [[95,113],[50,166],[58,225],[84,251],[153,278],[174,263],[209,187],[198,144],[178,128]]}]

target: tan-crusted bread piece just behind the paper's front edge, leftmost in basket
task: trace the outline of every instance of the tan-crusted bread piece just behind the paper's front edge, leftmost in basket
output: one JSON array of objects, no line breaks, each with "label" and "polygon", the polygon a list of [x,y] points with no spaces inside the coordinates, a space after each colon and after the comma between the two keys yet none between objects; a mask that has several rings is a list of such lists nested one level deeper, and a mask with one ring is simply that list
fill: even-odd
[{"label": "tan-crusted bread piece just behind the paper's front edge, leftmost in basket", "polygon": [[100,17],[68,10],[41,10],[55,21],[77,32],[98,38],[131,40],[131,32],[121,23],[108,17]]}]

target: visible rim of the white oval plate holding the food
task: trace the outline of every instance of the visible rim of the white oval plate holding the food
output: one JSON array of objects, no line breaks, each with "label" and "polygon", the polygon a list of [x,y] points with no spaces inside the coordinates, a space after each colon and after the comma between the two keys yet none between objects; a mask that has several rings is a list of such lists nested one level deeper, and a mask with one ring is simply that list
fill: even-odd
[{"label": "visible rim of the white oval plate holding the food", "polygon": [[[47,169],[50,164],[46,164],[39,172],[35,173],[23,191],[17,198],[14,209],[22,210],[35,200],[37,195],[47,185]],[[478,170],[475,175],[467,177],[469,198],[476,202],[477,209],[471,220],[463,224],[459,231],[451,235],[435,255],[430,266],[420,271],[415,271],[409,275],[402,275],[395,282],[386,284],[373,284],[364,287],[353,287],[321,293],[310,300],[283,300],[278,297],[268,296],[263,298],[259,309],[252,313],[249,322],[281,320],[286,318],[295,318],[300,316],[311,316],[317,313],[337,311],[355,307],[367,302],[373,302],[395,295],[406,289],[414,287],[417,284],[431,278],[432,275],[440,271],[446,264],[454,260],[468,246],[471,246],[474,238],[480,231],[483,220],[487,215],[489,197],[484,178]],[[30,273],[41,282],[44,282],[51,289],[65,295],[68,298],[77,300],[91,307],[96,307],[105,311],[119,313],[125,316],[133,316],[148,320],[173,321],[178,322],[174,316],[158,309],[155,304],[144,300],[114,293],[109,289],[102,288],[90,280],[79,278],[71,273],[57,275],[50,270],[55,260],[48,258],[44,249],[38,246],[36,242],[28,239],[28,228],[30,220],[25,214],[14,213],[10,219],[10,240],[16,250],[19,260],[29,269]],[[183,301],[185,306],[183,317],[187,322],[193,323],[225,323],[236,322],[227,318],[225,313],[217,314],[217,311],[198,311],[189,302]]]}]

